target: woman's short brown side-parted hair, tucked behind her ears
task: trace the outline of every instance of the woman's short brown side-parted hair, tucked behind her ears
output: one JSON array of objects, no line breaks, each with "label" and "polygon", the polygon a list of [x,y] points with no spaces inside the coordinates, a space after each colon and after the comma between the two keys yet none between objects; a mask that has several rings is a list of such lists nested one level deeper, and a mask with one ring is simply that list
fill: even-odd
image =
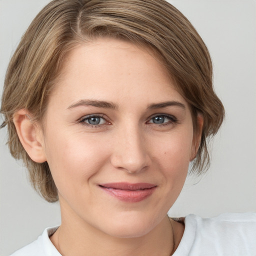
[{"label": "woman's short brown side-parted hair, tucked behind her ears", "polygon": [[5,76],[1,113],[8,145],[22,158],[34,188],[50,202],[58,199],[47,162],[30,159],[13,123],[15,111],[25,108],[42,121],[48,95],[66,53],[79,43],[108,36],[146,45],[160,56],[176,89],[189,103],[194,131],[203,115],[199,149],[192,171],[209,165],[206,138],[219,129],[224,109],[212,87],[209,52],[192,24],[165,0],[53,0],[34,18],[14,52]]}]

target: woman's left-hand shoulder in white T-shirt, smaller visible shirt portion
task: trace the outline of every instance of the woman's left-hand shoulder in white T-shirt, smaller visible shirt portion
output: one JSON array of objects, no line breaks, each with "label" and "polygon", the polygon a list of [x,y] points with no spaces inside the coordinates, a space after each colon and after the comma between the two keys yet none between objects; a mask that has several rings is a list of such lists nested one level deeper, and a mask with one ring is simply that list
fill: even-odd
[{"label": "woman's left-hand shoulder in white T-shirt, smaller visible shirt portion", "polygon": [[61,256],[49,239],[56,229],[57,226],[45,228],[35,241],[16,250],[10,256]]}]

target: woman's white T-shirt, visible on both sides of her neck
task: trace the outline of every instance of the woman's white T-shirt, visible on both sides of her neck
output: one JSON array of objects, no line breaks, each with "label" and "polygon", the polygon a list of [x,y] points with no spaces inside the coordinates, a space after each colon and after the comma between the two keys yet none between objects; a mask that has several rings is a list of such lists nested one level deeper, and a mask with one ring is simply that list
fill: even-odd
[{"label": "woman's white T-shirt, visible on both sides of her neck", "polygon": [[[256,256],[256,213],[223,213],[213,218],[189,214],[184,223],[173,256]],[[56,229],[46,228],[35,241],[11,256],[61,256],[49,239]]]}]

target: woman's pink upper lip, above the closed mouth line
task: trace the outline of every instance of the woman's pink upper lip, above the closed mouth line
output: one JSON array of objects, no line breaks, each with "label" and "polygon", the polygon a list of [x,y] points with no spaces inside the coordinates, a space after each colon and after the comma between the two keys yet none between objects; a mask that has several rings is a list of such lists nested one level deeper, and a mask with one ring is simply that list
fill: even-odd
[{"label": "woman's pink upper lip, above the closed mouth line", "polygon": [[155,184],[139,182],[139,183],[128,183],[128,182],[115,182],[115,183],[105,183],[99,184],[99,186],[113,189],[122,189],[122,190],[138,190],[138,189],[148,189],[155,187]]}]

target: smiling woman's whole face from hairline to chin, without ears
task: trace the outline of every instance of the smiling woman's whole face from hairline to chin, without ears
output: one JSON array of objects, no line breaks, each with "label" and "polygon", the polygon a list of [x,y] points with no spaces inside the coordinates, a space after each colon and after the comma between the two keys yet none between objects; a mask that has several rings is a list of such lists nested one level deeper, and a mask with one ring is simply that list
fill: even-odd
[{"label": "smiling woman's whole face from hairline to chin, without ears", "polygon": [[62,223],[136,237],[155,228],[180,193],[192,118],[149,50],[101,38],[66,58],[42,145]]}]

